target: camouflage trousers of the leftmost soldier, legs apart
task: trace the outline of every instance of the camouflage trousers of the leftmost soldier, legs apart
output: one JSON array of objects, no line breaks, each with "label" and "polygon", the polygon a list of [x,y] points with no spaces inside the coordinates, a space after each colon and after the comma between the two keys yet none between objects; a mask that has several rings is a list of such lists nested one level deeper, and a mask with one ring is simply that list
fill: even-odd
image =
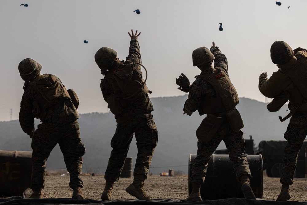
[{"label": "camouflage trousers of the leftmost soldier, legs apart", "polygon": [[31,188],[40,190],[45,187],[46,161],[57,143],[60,145],[67,171],[70,174],[69,187],[83,187],[81,174],[85,147],[81,142],[79,123],[76,120],[53,128],[46,128],[44,123],[38,125],[31,145],[33,149]]}]

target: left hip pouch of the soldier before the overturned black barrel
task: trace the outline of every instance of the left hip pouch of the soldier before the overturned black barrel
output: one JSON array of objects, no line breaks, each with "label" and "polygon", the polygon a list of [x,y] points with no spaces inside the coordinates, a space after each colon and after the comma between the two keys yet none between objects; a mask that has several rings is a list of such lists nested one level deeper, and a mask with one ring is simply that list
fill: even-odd
[{"label": "left hip pouch of the soldier before the overturned black barrel", "polygon": [[209,142],[219,130],[223,120],[224,117],[216,117],[214,115],[207,114],[196,130],[197,139],[203,142]]}]

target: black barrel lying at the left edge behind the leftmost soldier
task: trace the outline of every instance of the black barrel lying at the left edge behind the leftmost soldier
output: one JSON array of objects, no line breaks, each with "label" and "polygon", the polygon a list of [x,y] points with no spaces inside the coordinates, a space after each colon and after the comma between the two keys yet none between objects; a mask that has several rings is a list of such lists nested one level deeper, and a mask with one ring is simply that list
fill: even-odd
[{"label": "black barrel lying at the left edge behind the leftmost soldier", "polygon": [[32,152],[0,151],[0,196],[21,196],[31,186]]}]

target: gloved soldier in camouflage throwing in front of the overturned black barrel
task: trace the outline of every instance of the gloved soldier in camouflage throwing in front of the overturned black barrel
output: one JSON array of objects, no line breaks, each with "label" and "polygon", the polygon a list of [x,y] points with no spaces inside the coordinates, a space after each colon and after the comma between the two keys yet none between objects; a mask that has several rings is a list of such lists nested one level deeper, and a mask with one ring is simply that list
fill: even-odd
[{"label": "gloved soldier in camouflage throwing in front of the overturned black barrel", "polygon": [[[214,42],[212,44],[210,50],[206,47],[200,47],[193,51],[193,66],[197,66],[201,70],[201,73],[199,76],[196,76],[196,80],[192,85],[189,85],[189,81],[183,73],[176,79],[177,85],[180,86],[178,89],[189,93],[183,108],[184,114],[186,113],[191,116],[196,110],[199,111],[200,115],[207,114],[196,131],[198,138],[197,155],[190,178],[192,182],[192,193],[186,200],[202,200],[200,186],[204,184],[208,162],[222,140],[226,144],[237,179],[242,184],[242,191],[245,198],[256,199],[249,184],[251,171],[247,162],[247,156],[244,154],[245,141],[243,139],[243,132],[241,131],[243,127],[242,119],[240,117],[239,123],[241,121],[242,125],[236,131],[233,131],[226,119],[226,113],[229,110],[236,110],[235,105],[239,103],[239,98],[228,77],[227,58],[220,51],[219,47],[215,46]],[[212,67],[213,60],[215,63],[214,68]],[[220,88],[218,92],[206,80],[208,76],[212,76],[213,78],[224,76],[228,87]],[[227,93],[229,93],[227,99],[231,101],[230,108],[227,108],[226,100],[220,97],[219,93],[223,93],[224,96],[227,96]],[[220,100],[221,98],[223,99],[222,101]],[[206,104],[206,100],[211,100],[211,103]],[[215,103],[212,104],[212,102]],[[208,109],[208,107],[210,108]],[[238,111],[236,112],[239,113]],[[216,119],[217,124],[212,121]]]}]

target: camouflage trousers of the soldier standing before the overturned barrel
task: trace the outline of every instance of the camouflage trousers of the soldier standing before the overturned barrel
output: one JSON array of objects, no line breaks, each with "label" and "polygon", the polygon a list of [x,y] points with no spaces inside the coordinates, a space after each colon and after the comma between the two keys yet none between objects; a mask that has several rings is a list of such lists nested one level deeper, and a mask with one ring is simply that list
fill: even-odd
[{"label": "camouflage trousers of the soldier standing before the overturned barrel", "polygon": [[197,154],[194,159],[193,171],[190,178],[192,183],[204,184],[208,162],[222,140],[225,142],[238,181],[242,175],[248,175],[251,178],[247,156],[244,154],[245,141],[243,139],[243,132],[239,130],[235,133],[231,130],[227,122],[223,122],[212,140],[207,143],[198,140]]}]

